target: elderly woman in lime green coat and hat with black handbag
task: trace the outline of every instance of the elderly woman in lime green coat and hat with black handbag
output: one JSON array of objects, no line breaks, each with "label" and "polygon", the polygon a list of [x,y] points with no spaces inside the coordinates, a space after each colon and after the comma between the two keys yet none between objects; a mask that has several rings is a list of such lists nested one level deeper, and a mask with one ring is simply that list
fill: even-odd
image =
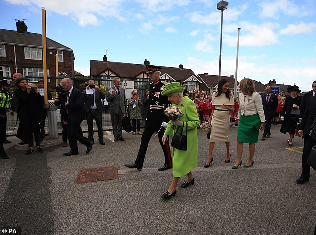
[{"label": "elderly woman in lime green coat and hat with black handbag", "polygon": [[[179,82],[166,84],[161,88],[161,95],[168,96],[172,106],[176,106],[182,111],[182,116],[176,120],[169,121],[168,127],[163,135],[163,142],[172,133],[187,133],[187,150],[182,151],[173,148],[173,179],[168,189],[161,197],[169,199],[176,194],[176,186],[181,176],[187,175],[181,187],[186,188],[190,184],[194,184],[192,170],[197,167],[197,127],[200,120],[196,111],[195,104],[188,97],[183,97],[185,86],[181,86]],[[187,131],[187,132],[186,132]]]}]

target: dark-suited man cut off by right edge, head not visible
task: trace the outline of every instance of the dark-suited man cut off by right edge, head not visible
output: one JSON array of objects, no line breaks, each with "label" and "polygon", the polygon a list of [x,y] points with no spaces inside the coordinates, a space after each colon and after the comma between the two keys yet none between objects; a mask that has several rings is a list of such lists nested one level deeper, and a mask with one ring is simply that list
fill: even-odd
[{"label": "dark-suited man cut off by right edge, head not visible", "polygon": [[306,163],[313,146],[316,145],[316,140],[311,138],[309,135],[309,128],[312,125],[316,117],[316,95],[309,99],[307,102],[304,115],[300,124],[299,135],[303,136],[304,147],[302,154],[302,173],[296,182],[298,184],[303,184],[310,180],[310,166]]}]

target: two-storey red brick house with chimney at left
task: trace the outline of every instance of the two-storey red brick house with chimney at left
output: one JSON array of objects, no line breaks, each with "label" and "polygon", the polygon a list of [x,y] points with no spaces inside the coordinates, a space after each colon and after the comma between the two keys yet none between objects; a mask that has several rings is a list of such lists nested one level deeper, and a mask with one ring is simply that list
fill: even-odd
[{"label": "two-storey red brick house with chimney at left", "polygon": [[[24,77],[43,77],[42,35],[27,32],[23,21],[17,21],[16,27],[17,31],[0,29],[0,77],[12,77],[16,72]],[[72,49],[50,38],[46,45],[48,77],[56,77],[56,54],[58,74],[73,77],[75,57]]]}]

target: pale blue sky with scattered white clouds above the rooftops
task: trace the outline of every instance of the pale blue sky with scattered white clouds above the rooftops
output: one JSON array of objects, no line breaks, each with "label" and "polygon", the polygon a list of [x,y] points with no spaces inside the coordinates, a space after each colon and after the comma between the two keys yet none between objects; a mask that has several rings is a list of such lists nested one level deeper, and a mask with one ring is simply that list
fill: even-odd
[{"label": "pale blue sky with scattered white clouds above the rooftops", "polygon": [[[219,1],[219,0],[218,0]],[[27,19],[42,33],[73,49],[75,69],[89,74],[89,60],[154,65],[183,64],[195,74],[218,74],[220,11],[214,0],[0,0],[0,29],[15,30]],[[234,0],[224,11],[222,69],[238,80],[296,83],[311,90],[316,80],[315,0]]]}]

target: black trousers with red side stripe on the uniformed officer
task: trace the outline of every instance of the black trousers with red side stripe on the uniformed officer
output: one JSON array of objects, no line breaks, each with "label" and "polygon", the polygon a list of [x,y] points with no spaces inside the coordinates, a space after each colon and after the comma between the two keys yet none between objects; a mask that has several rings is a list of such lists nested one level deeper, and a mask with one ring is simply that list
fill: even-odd
[{"label": "black trousers with red side stripe on the uniformed officer", "polygon": [[[171,151],[170,151],[169,143],[168,143],[168,141],[165,141],[165,145],[164,145],[162,142],[164,130],[165,129],[162,128],[158,132],[159,142],[160,142],[161,148],[162,148],[163,153],[164,153],[164,164],[166,164],[169,167],[172,167],[172,158],[171,158]],[[140,146],[140,149],[138,150],[137,158],[135,160],[135,164],[136,164],[137,168],[140,168],[140,169],[143,168],[147,147],[148,147],[149,141],[151,140],[152,135],[155,132],[156,132],[155,129],[153,129],[151,127],[145,127],[143,135],[142,135],[141,146]]]}]

